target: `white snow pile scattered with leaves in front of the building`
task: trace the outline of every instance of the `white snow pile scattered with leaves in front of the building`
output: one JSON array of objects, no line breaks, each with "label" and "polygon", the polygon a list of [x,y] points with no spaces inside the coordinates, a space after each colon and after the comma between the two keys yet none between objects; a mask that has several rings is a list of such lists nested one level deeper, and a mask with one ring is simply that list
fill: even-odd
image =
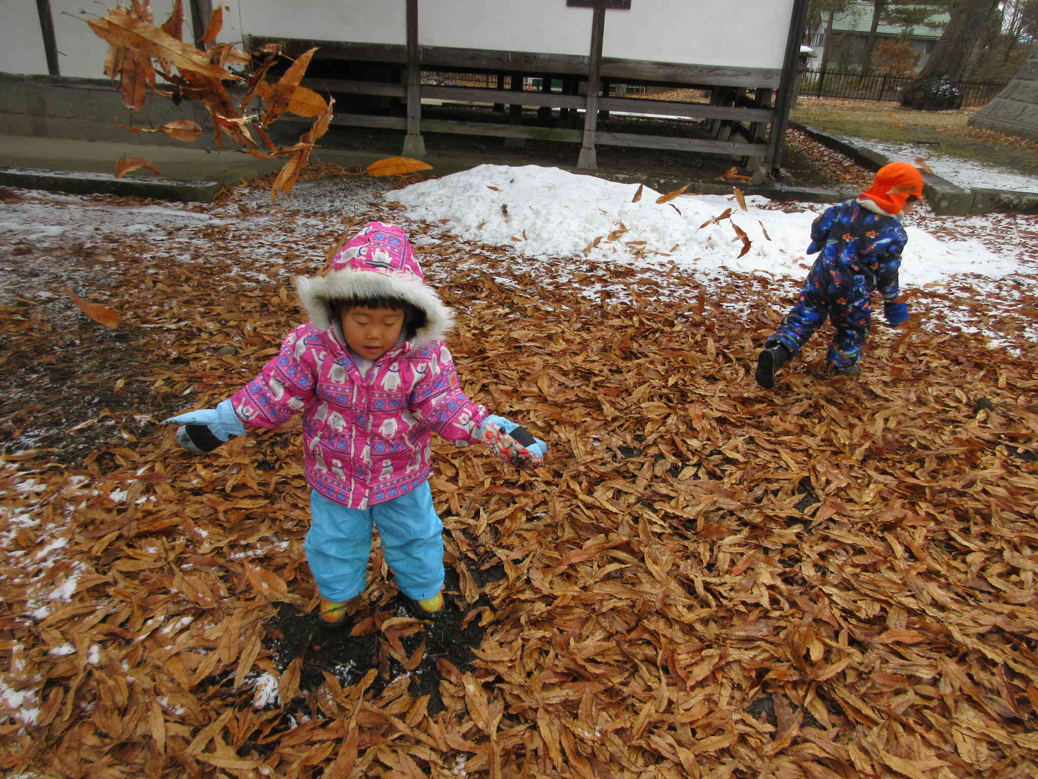
[{"label": "white snow pile scattered with leaves in front of the building", "polygon": [[[559,168],[480,165],[385,196],[408,207],[411,217],[445,224],[461,238],[541,260],[583,253],[591,262],[676,263],[701,280],[726,270],[799,278],[814,261],[805,253],[811,223],[825,206],[786,213],[763,208],[769,203],[764,197],[748,196],[743,211],[733,195],[682,195],[658,204],[660,193],[648,187],[634,203],[637,190],[636,184]],[[718,218],[727,210],[730,215]],[[749,241],[741,257],[744,241],[736,227]],[[906,231],[904,284],[941,283],[961,273],[1000,277],[1016,270],[1011,257],[977,241]]]}]

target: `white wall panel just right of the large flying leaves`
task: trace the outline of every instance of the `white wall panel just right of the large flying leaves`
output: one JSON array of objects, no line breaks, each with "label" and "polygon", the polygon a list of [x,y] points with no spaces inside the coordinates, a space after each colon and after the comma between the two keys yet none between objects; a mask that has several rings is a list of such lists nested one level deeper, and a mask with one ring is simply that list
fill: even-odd
[{"label": "white wall panel just right of the large flying leaves", "polygon": [[[424,0],[419,0],[425,5]],[[238,0],[246,35],[407,44],[405,0]]]}]

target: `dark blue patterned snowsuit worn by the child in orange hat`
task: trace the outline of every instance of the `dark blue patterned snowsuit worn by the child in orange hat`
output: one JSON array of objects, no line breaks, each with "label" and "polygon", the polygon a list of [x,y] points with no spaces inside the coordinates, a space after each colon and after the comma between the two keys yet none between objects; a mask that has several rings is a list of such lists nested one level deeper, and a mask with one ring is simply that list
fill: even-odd
[{"label": "dark blue patterned snowsuit worn by the child in orange hat", "polygon": [[907,318],[907,306],[894,302],[907,240],[896,217],[874,214],[856,200],[826,209],[811,225],[808,247],[809,254],[819,249],[822,253],[808,273],[796,304],[765,346],[782,344],[795,355],[828,316],[836,334],[826,360],[837,368],[857,362],[869,333],[873,290],[883,296],[892,325]]}]

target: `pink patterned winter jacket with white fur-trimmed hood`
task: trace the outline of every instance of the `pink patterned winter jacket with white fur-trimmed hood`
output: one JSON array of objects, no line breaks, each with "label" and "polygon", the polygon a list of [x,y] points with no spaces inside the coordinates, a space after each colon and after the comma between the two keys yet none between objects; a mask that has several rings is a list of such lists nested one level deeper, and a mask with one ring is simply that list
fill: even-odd
[{"label": "pink patterned winter jacket with white fur-trimmed hood", "polygon": [[[231,397],[246,426],[275,428],[303,414],[306,480],[339,505],[365,509],[429,478],[431,433],[480,442],[488,415],[458,386],[442,339],[453,312],[425,284],[417,258],[394,224],[371,222],[347,243],[325,276],[296,279],[309,322]],[[361,375],[336,334],[330,303],[397,297],[426,314],[404,343]]]}]

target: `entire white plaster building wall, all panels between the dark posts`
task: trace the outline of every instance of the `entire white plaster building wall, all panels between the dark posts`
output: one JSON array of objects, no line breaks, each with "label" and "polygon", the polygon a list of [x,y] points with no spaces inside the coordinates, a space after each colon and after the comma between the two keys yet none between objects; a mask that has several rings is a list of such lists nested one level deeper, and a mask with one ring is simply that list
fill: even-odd
[{"label": "entire white plaster building wall, all panels between the dark posts", "polygon": [[[738,68],[782,68],[794,0],[741,0],[737,4],[688,0],[632,0],[631,10],[606,11],[607,57]],[[171,0],[153,0],[162,24]],[[103,15],[82,0],[51,0],[62,76],[103,78],[107,45],[85,24],[81,10]],[[0,71],[46,74],[47,59],[35,3],[0,0]],[[189,14],[189,12],[188,12]],[[419,41],[425,46],[586,55],[590,8],[565,0],[419,0]],[[190,35],[190,16],[185,24]],[[307,0],[293,6],[274,0],[238,0],[224,12],[221,42],[246,34],[277,37],[407,43],[405,0]]]}]

